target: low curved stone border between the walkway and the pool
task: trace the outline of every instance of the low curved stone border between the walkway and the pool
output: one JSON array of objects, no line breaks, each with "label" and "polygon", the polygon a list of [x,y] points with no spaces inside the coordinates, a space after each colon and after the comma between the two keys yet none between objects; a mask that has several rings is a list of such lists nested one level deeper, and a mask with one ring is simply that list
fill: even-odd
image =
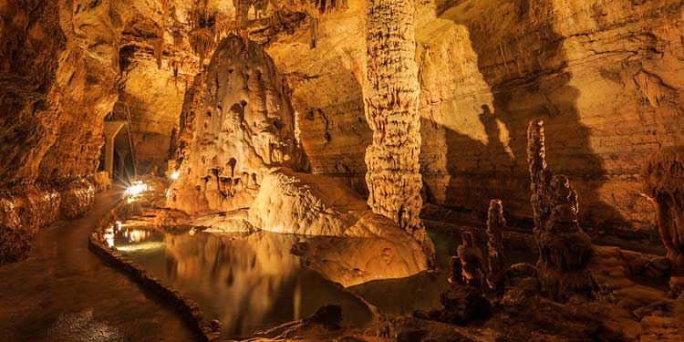
[{"label": "low curved stone border between the walkway and the pool", "polygon": [[119,201],[115,203],[98,222],[95,232],[88,236],[88,250],[128,275],[138,285],[149,289],[155,295],[159,295],[182,316],[201,341],[217,341],[220,337],[219,325],[205,320],[202,309],[197,303],[182,295],[171,285],[165,285],[161,279],[150,275],[141,264],[130,261],[120,254],[116,247],[109,247],[107,244],[104,233],[109,226],[116,225],[117,221],[123,222],[140,212],[140,205],[135,202]]}]

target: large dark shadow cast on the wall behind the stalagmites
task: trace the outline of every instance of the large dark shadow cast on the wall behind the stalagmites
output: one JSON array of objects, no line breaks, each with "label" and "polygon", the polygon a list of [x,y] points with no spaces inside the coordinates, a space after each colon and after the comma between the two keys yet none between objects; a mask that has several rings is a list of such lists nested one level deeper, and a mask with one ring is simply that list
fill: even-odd
[{"label": "large dark shadow cast on the wall behind the stalagmites", "polygon": [[[517,9],[521,22],[532,20],[528,1],[516,1],[518,6],[522,6]],[[488,137],[487,144],[441,127],[447,146],[446,170],[451,176],[445,203],[457,210],[473,211],[473,215],[482,219],[489,200],[501,198],[511,218],[509,223],[531,227],[526,130],[530,120],[544,119],[547,161],[555,173],[565,174],[578,192],[583,227],[593,235],[610,235],[616,230],[622,235],[627,231],[627,221],[615,208],[599,199],[606,171],[590,146],[591,133],[582,124],[576,107],[580,89],[570,84],[572,74],[566,68],[568,59],[563,50],[564,36],[552,25],[542,26],[538,37],[542,40],[540,47],[543,49],[535,51],[539,62],[534,70],[528,70],[524,78],[515,78],[508,73],[503,81],[497,81],[496,76],[503,72],[500,56],[497,55],[493,64],[487,64],[486,58],[482,58],[498,53],[492,50],[494,45],[489,44],[489,35],[470,21],[453,21],[467,27],[470,32],[477,67],[492,92],[493,109],[482,104],[479,115]],[[480,107],[480,104],[473,104],[473,107]],[[508,130],[510,140],[507,145],[499,139],[501,129],[497,120]],[[422,124],[434,125],[427,119],[423,119]],[[603,241],[610,240],[610,237],[606,239]]]}]

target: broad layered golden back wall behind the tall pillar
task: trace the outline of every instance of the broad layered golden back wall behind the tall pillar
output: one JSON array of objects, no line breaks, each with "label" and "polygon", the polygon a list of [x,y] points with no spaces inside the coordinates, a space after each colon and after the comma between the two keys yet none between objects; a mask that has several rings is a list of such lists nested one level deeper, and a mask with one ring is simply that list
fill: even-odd
[{"label": "broad layered golden back wall behind the tall pillar", "polygon": [[[422,3],[416,59],[428,202],[483,217],[501,198],[513,223],[529,223],[525,130],[544,119],[548,161],[574,184],[583,226],[649,232],[655,212],[641,167],[684,138],[681,2]],[[312,170],[359,191],[370,142],[359,86],[363,4],[323,16],[313,50],[306,32],[268,47],[290,80]]]}]

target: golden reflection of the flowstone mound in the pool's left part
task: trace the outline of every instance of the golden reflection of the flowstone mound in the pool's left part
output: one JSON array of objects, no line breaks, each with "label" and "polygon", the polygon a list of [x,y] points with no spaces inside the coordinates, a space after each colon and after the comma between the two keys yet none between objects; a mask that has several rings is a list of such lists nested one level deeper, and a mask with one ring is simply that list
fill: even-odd
[{"label": "golden reflection of the flowstone mound in the pool's left part", "polygon": [[341,285],[300,266],[290,254],[294,235],[188,233],[146,229],[117,232],[114,244],[131,260],[198,302],[219,319],[223,338],[313,314],[326,304],[342,306],[347,326],[364,326],[372,314]]}]

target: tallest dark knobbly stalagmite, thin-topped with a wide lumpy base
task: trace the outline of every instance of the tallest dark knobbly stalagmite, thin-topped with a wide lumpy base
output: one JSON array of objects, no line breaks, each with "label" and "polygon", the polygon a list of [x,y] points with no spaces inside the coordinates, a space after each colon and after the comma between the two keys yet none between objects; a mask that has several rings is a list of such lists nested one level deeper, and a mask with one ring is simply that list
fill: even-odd
[{"label": "tallest dark knobbly stalagmite, thin-topped with a wide lumpy base", "polygon": [[546,165],[543,120],[530,122],[527,160],[542,288],[546,295],[561,301],[573,294],[586,294],[591,239],[577,223],[577,193],[565,176],[554,175]]}]

